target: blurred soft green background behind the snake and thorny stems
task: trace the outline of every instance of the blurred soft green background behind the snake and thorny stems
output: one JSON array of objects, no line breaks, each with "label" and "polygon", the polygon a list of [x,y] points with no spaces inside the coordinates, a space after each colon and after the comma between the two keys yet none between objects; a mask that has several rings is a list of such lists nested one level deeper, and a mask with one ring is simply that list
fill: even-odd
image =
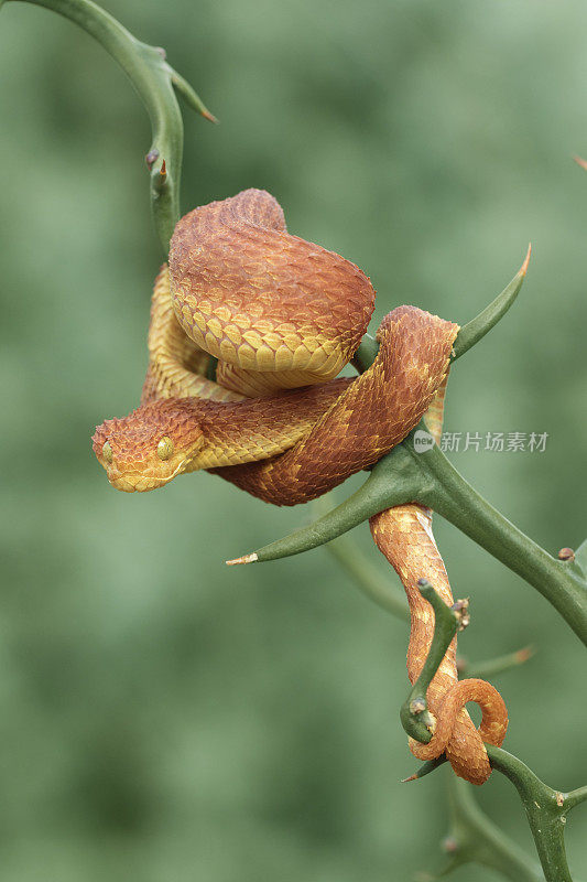
[{"label": "blurred soft green background behind the snake and thorny stems", "polygon": [[[452,454],[552,552],[585,523],[585,3],[110,0],[221,125],[188,114],[184,209],[265,187],[290,229],[356,261],[378,320],[467,321],[534,256],[508,319],[453,372],[447,431],[548,432],[544,453]],[[32,6],[0,15],[0,879],[389,882],[442,865],[445,772],[416,785],[398,720],[406,627],[319,549],[224,560],[312,516],[207,474],[108,485],[94,426],[138,401],[153,277],[146,116],[121,71]],[[357,480],[349,482],[354,486]],[[348,487],[338,491],[341,498]],[[581,648],[454,528],[437,537],[507,746],[585,778]],[[366,528],[357,541],[376,558]],[[390,581],[399,585],[393,573]],[[483,808],[532,849],[497,774]],[[586,818],[567,843],[587,858]],[[496,879],[465,868],[455,879]]]}]

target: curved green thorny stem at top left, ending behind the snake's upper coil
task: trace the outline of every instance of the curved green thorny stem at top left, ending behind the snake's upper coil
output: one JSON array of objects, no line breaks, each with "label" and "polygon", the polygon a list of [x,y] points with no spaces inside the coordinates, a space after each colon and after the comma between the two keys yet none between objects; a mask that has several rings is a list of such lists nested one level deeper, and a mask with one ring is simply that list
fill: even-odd
[{"label": "curved green thorny stem at top left, ending behind the snake's upper coil", "polygon": [[94,36],[120,64],[139,93],[151,119],[153,142],[148,153],[151,206],[155,227],[167,254],[180,219],[180,179],[184,127],[174,85],[202,116],[214,120],[191,86],[170,67],[165,52],[137,40],[120,22],[91,0],[25,0],[75,22]]}]

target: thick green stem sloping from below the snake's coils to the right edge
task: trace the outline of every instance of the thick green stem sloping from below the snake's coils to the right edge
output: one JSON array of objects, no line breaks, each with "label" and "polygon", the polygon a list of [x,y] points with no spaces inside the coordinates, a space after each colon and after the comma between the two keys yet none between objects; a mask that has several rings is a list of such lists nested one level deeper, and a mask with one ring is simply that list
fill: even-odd
[{"label": "thick green stem sloping from below the snake's coils to the right edge", "polygon": [[405,447],[435,478],[422,502],[540,591],[587,645],[585,581],[483,499],[437,447],[425,453],[415,453],[410,443]]}]

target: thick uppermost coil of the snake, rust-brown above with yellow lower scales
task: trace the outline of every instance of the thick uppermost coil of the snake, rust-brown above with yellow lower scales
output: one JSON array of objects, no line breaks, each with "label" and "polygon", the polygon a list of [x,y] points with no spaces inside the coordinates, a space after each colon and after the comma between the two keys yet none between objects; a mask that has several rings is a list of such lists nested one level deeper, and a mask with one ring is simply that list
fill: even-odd
[{"label": "thick uppermost coil of the snake, rust-brown above with yellow lower scales", "polygon": [[185,215],[171,241],[170,271],[180,324],[220,359],[219,380],[237,390],[251,370],[275,375],[280,387],[335,377],[374,305],[367,276],[290,235],[276,200],[259,190]]}]

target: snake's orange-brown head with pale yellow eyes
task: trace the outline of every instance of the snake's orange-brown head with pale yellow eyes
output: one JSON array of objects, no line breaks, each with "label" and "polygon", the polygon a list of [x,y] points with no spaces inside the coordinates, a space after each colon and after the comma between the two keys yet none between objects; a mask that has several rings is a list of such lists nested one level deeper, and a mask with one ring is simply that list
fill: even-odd
[{"label": "snake's orange-brown head with pale yellow eyes", "polygon": [[204,433],[193,399],[167,398],[105,420],[91,440],[110,484],[124,493],[144,493],[185,472]]}]

